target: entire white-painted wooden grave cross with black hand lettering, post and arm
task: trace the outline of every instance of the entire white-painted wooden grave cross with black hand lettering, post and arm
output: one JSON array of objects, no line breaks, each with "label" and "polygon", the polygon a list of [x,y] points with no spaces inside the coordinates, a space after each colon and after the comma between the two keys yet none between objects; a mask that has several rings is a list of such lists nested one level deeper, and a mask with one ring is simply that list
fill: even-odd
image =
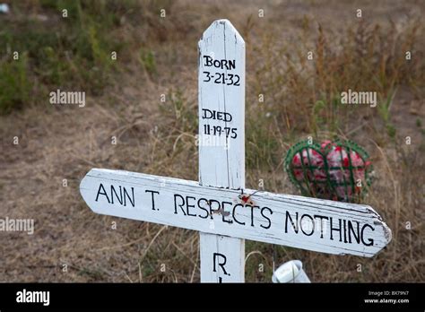
[{"label": "entire white-painted wooden grave cross with black hand lettering, post and arm", "polygon": [[199,41],[199,182],[91,169],[93,212],[200,232],[201,282],[244,282],[245,240],[374,256],[391,230],[370,206],[245,188],[245,42],[219,20]]}]

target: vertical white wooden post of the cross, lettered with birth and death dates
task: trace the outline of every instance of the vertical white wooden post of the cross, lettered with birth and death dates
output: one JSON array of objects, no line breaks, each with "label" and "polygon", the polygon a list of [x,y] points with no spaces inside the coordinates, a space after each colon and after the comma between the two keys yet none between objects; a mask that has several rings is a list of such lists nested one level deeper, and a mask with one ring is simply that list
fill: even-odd
[{"label": "vertical white wooden post of the cross, lettered with birth and death dates", "polygon": [[[199,183],[245,187],[245,41],[228,20],[212,22],[199,44]],[[234,203],[210,203],[226,215]],[[231,223],[231,220],[228,220]],[[229,224],[230,225],[230,224]],[[210,229],[214,220],[210,221]],[[200,233],[201,282],[244,282],[245,240]]]}]

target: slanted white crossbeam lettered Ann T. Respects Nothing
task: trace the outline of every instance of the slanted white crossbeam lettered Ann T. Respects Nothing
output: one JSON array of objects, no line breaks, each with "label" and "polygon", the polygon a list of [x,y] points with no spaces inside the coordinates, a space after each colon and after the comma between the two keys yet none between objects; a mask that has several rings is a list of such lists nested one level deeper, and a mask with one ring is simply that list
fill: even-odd
[{"label": "slanted white crossbeam lettered Ann T. Respects Nothing", "polygon": [[121,170],[91,169],[80,190],[93,212],[328,254],[374,256],[391,230],[370,206]]}]

